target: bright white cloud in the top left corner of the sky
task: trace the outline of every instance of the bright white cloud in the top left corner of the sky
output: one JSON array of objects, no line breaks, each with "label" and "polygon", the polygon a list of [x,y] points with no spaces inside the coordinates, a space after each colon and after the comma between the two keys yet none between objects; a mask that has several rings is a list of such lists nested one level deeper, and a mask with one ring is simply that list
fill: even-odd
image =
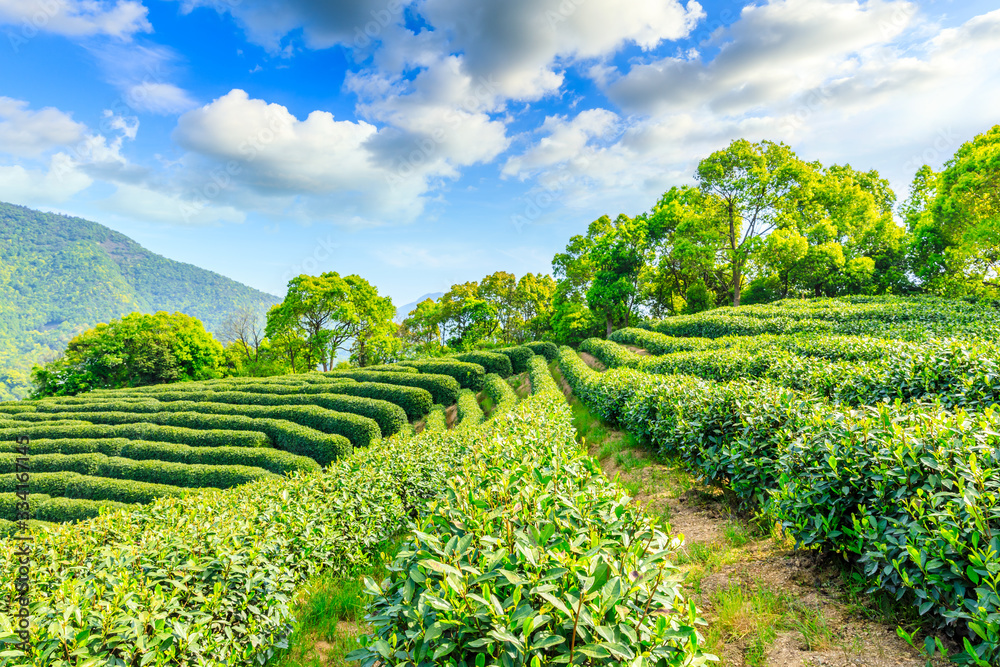
[{"label": "bright white cloud in the top left corner of the sky", "polygon": [[0,0],[0,25],[17,26],[8,33],[15,48],[38,32],[129,39],[137,32],[153,31],[147,12],[134,0]]}]

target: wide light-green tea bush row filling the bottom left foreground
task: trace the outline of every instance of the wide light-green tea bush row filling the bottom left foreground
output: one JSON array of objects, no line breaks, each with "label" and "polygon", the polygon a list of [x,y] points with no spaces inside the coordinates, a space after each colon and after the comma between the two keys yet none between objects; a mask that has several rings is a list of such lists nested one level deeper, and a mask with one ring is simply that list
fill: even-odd
[{"label": "wide light-green tea bush row filling the bottom left foreground", "polygon": [[[477,455],[476,443],[524,431],[525,446],[541,447],[554,428],[568,428],[523,410],[516,432],[491,420],[392,438],[323,474],[161,498],[91,519],[86,530],[36,532],[25,662],[55,665],[64,651],[77,664],[263,662],[293,629],[297,589],[320,571],[366,562]],[[14,607],[18,567],[16,545],[0,540],[0,609]],[[149,623],[135,621],[136,609]],[[0,642],[16,641],[13,623],[0,612]]]}]

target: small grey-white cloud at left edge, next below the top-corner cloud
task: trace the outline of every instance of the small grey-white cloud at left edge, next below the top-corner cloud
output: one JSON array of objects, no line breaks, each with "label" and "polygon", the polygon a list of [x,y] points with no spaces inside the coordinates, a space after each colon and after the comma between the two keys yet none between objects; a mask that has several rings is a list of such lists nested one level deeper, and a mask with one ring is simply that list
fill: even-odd
[{"label": "small grey-white cloud at left edge, next below the top-corner cloud", "polygon": [[58,109],[32,111],[23,100],[0,97],[0,152],[38,157],[53,148],[76,143],[86,130],[86,125]]}]

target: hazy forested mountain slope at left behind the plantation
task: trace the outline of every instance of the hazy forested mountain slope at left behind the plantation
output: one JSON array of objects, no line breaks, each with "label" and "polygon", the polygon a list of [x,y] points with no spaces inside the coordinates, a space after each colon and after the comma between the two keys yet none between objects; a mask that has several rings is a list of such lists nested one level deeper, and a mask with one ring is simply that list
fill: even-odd
[{"label": "hazy forested mountain slope at left behind the plantation", "polygon": [[280,298],[175,262],[96,222],[0,202],[0,400],[85,329],[132,312],[180,311],[215,331]]}]

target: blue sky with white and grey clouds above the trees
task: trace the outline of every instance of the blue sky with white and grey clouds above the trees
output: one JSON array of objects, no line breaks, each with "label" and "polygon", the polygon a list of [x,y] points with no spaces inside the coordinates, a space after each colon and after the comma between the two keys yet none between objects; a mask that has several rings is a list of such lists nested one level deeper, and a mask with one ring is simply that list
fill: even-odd
[{"label": "blue sky with white and grey clouds above the trees", "polygon": [[401,305],[550,272],[737,138],[902,200],[998,82],[997,0],[0,0],[0,201]]}]

